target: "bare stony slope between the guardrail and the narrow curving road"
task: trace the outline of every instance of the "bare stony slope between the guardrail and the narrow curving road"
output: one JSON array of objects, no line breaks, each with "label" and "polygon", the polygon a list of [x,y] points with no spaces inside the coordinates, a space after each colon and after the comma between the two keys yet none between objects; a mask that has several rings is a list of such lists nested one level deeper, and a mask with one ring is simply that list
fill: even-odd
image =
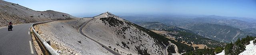
[{"label": "bare stony slope between the guardrail and the narrow curving road", "polygon": [[92,18],[53,21],[34,26],[45,41],[63,55],[113,55],[96,42],[82,36],[78,28]]}]

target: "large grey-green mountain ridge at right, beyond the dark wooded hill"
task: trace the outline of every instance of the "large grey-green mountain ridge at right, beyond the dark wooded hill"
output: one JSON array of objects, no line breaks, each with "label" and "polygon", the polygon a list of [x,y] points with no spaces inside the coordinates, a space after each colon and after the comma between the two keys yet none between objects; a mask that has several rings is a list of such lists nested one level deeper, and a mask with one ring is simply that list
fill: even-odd
[{"label": "large grey-green mountain ridge at right, beyond the dark wooded hill", "polygon": [[226,43],[235,42],[239,37],[245,38],[247,35],[256,35],[227,25],[192,23],[188,25],[182,25],[180,27],[191,30],[192,32],[195,32],[196,34],[206,38]]}]

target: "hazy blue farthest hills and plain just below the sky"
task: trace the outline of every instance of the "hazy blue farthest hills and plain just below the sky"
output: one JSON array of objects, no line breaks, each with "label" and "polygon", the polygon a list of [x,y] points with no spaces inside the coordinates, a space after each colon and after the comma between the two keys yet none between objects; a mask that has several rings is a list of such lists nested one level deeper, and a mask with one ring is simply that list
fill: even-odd
[{"label": "hazy blue farthest hills and plain just below the sky", "polygon": [[[140,24],[144,22],[160,22],[168,26],[180,27],[190,23],[210,23],[218,25],[228,25],[234,28],[253,28],[256,27],[256,19],[246,17],[223,17],[216,15],[205,16],[121,16],[132,23]],[[136,18],[136,19],[132,19]]]}]

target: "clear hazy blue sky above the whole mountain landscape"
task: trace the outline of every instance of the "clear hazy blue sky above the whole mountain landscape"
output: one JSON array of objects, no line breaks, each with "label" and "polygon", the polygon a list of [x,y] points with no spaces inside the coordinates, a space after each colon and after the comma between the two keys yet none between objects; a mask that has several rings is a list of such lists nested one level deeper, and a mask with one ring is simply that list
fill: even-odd
[{"label": "clear hazy blue sky above the whole mountain landscape", "polygon": [[118,14],[191,14],[256,18],[256,0],[5,0],[36,11],[77,17]]}]

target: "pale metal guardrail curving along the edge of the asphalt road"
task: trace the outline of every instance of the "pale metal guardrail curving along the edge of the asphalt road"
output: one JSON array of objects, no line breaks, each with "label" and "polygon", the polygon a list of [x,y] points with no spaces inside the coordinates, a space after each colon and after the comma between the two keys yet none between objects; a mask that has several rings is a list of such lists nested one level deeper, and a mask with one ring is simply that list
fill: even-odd
[{"label": "pale metal guardrail curving along the edge of the asphalt road", "polygon": [[[54,21],[56,21],[56,20],[54,20]],[[59,55],[47,42],[44,41],[44,39],[36,32],[36,30],[33,27],[33,26],[38,25],[40,23],[47,23],[47,22],[52,22],[52,21],[45,21],[45,22],[34,23],[34,24],[32,24],[31,27],[33,29],[34,34],[36,34],[36,37],[40,40],[40,42],[43,44],[45,49],[47,51],[49,51],[50,55]]]}]

